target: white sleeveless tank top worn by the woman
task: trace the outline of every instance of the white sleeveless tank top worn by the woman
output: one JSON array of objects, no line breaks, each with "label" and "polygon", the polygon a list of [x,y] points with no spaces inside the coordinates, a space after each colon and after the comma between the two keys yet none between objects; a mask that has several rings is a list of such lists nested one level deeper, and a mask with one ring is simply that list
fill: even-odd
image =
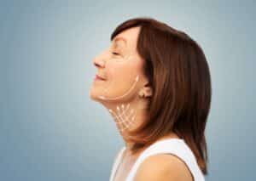
[{"label": "white sleeveless tank top worn by the woman", "polygon": [[[113,162],[113,167],[110,175],[109,181],[113,181],[114,175],[119,167],[119,163],[125,151],[125,146],[119,150],[118,155]],[[142,154],[138,156],[137,161],[135,161],[134,165],[131,167],[131,171],[126,177],[125,181],[133,181],[135,174],[137,172],[137,168],[140,164],[148,157],[153,156],[155,154],[172,154],[178,156],[182,159],[187,167],[189,167],[190,172],[194,177],[194,181],[205,181],[204,175],[201,172],[200,167],[198,166],[195,156],[190,150],[189,146],[184,142],[183,139],[163,139],[155,142],[148,146],[146,150],[143,150]]]}]

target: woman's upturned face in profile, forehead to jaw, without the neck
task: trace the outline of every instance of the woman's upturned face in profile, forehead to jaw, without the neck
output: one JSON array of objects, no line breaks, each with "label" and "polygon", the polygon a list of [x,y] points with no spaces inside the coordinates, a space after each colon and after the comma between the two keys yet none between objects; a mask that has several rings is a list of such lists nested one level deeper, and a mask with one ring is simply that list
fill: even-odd
[{"label": "woman's upturned face in profile, forehead to jaw, without the neck", "polygon": [[143,87],[143,59],[137,54],[140,27],[120,32],[107,50],[94,59],[97,73],[90,88],[90,98],[129,100]]}]

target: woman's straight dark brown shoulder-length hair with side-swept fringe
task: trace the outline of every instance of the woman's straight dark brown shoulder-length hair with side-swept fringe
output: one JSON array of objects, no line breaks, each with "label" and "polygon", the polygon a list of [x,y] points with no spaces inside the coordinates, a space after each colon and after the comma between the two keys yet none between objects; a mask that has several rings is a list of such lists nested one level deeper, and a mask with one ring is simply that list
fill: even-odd
[{"label": "woman's straight dark brown shoulder-length hair with side-swept fringe", "polygon": [[207,59],[201,47],[183,31],[148,17],[126,20],[121,31],[141,27],[137,52],[145,60],[145,74],[153,88],[148,119],[130,132],[135,153],[166,133],[177,133],[193,151],[199,167],[207,174],[205,128],[212,87]]}]

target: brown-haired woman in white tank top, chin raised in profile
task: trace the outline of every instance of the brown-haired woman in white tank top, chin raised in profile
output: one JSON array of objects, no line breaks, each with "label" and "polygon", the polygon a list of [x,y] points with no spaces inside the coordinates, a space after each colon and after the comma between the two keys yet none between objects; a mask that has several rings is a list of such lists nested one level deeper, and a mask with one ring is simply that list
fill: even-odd
[{"label": "brown-haired woman in white tank top, chin raised in profile", "polygon": [[125,141],[110,181],[204,180],[212,88],[200,46],[147,17],[126,20],[111,41],[90,89]]}]

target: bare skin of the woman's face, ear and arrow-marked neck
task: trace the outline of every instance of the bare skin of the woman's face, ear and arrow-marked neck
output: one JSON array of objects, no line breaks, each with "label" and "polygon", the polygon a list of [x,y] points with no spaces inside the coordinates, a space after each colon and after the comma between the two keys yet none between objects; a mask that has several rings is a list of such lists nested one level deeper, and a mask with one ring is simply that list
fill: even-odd
[{"label": "bare skin of the woman's face, ear and arrow-marked neck", "polygon": [[128,130],[138,127],[147,116],[145,108],[148,105],[148,99],[140,97],[139,94],[143,93],[145,97],[152,96],[151,88],[147,86],[148,78],[143,73],[144,59],[139,56],[136,49],[139,31],[140,27],[122,31],[114,38],[109,48],[96,56],[93,63],[96,65],[97,74],[105,80],[94,81],[90,88],[90,98],[100,102],[108,110],[112,110],[114,114],[110,113],[115,122],[131,122],[132,116],[128,116],[128,111],[125,112],[125,116],[121,115],[124,116],[122,120],[117,119],[117,116],[122,113],[118,111],[122,105],[125,107],[129,104],[129,111],[134,111],[135,118],[130,127],[117,124],[119,133],[128,148],[132,145],[127,141]]}]

